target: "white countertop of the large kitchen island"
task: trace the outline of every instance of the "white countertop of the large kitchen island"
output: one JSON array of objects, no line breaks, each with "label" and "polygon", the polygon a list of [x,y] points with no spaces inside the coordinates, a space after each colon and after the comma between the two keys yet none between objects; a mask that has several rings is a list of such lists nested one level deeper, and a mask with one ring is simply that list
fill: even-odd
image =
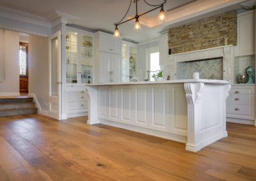
[{"label": "white countertop of the large kitchen island", "polygon": [[147,84],[164,84],[164,83],[188,83],[202,82],[212,84],[230,84],[227,80],[211,80],[211,79],[183,79],[183,80],[164,80],[164,81],[144,81],[144,82],[109,82],[109,83],[85,83],[86,86],[100,85],[147,85]]}]

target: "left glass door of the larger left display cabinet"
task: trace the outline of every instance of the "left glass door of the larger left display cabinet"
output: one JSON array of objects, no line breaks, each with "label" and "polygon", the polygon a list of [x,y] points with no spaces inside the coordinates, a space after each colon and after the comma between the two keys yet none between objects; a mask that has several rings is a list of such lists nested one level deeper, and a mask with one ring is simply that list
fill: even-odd
[{"label": "left glass door of the larger left display cabinet", "polygon": [[66,33],[66,79],[67,83],[77,83],[77,33]]}]

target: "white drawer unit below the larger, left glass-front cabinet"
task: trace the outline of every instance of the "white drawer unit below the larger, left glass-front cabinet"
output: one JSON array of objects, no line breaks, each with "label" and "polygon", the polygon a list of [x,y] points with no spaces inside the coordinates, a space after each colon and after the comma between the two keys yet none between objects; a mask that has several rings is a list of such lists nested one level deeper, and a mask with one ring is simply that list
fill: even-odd
[{"label": "white drawer unit below the larger, left glass-front cabinet", "polygon": [[88,115],[88,96],[82,87],[67,87],[67,117]]}]

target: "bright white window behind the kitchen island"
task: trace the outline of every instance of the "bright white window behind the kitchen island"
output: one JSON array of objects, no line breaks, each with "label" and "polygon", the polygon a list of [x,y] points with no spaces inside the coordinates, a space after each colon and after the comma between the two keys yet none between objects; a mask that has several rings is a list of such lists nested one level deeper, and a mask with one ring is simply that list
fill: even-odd
[{"label": "bright white window behind the kitchen island", "polygon": [[160,66],[159,66],[159,47],[148,48],[147,52],[148,52],[147,68],[148,68],[148,71],[150,71],[149,80],[154,81],[154,78],[152,78],[152,75],[154,73],[156,73],[157,70],[160,70]]}]

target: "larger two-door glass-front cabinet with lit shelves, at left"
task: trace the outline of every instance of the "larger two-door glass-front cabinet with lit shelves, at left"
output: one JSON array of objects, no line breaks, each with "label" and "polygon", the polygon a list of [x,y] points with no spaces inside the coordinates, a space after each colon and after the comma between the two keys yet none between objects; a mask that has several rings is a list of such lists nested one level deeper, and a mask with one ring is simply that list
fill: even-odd
[{"label": "larger two-door glass-front cabinet with lit shelves, at left", "polygon": [[68,29],[66,32],[67,83],[93,82],[93,34]]}]

